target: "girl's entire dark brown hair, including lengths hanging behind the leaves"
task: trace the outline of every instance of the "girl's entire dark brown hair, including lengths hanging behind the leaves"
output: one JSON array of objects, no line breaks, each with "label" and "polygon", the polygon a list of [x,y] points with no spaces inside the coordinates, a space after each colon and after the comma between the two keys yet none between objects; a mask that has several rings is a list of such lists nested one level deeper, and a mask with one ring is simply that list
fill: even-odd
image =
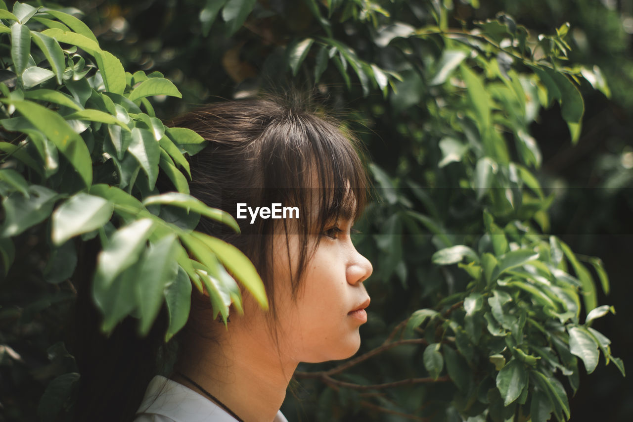
[{"label": "girl's entire dark brown hair, including lengths hanging behind the leaves", "polygon": [[[234,217],[237,203],[299,208],[296,224],[285,219],[256,219],[253,224],[250,219],[237,219],[241,234],[210,219],[197,226],[198,231],[232,243],[253,261],[264,281],[271,321],[275,319],[272,234],[285,233],[286,242],[289,234],[298,234],[301,240],[299,262],[291,276],[296,295],[318,245],[310,235],[322,233],[341,217],[356,219],[365,205],[367,176],[358,142],[337,120],[315,110],[298,99],[247,99],[213,103],[168,122],[197,132],[208,143],[189,159],[192,196]],[[95,255],[84,275],[94,270]],[[82,373],[75,420],[131,420],[159,368],[165,309],[146,338],[136,336],[130,317],[106,338],[98,331],[98,312],[89,305],[89,283],[82,283],[82,289],[75,316],[80,321],[75,355]],[[194,290],[183,330],[189,340],[192,334],[208,331],[204,324],[213,318],[209,307],[208,298]]]}]

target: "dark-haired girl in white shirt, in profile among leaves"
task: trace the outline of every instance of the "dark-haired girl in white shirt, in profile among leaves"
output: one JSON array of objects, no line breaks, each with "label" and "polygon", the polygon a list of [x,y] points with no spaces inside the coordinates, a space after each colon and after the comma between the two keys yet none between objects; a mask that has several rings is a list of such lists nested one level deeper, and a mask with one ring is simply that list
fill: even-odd
[{"label": "dark-haired girl in white shirt, in profile among leaves", "polygon": [[358,145],[338,122],[271,99],[215,103],[172,124],[208,141],[190,160],[192,196],[234,217],[238,203],[280,203],[299,218],[249,215],[237,219],[241,234],[201,221],[198,231],[253,261],[270,309],[244,291],[244,313],[231,307],[225,328],[194,289],[173,370],[149,382],[134,420],[285,421],[279,407],[298,363],[350,357],[367,321],[372,264],[350,238],[367,189]]}]

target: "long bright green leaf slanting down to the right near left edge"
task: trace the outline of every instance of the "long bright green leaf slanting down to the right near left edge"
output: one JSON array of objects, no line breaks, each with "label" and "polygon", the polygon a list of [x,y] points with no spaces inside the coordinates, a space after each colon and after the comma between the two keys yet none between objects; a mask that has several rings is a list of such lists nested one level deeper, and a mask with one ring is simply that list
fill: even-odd
[{"label": "long bright green leaf slanting down to the right near left edge", "polygon": [[85,186],[92,184],[92,159],[84,139],[58,113],[31,101],[7,101],[50,139],[75,167]]}]

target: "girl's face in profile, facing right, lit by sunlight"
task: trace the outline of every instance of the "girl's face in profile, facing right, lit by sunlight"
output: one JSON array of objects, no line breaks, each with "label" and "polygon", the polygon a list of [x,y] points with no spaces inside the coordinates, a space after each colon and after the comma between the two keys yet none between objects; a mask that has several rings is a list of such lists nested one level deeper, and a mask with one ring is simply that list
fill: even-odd
[{"label": "girl's face in profile, facing right, lit by sunlight", "polygon": [[[367,321],[369,296],[363,281],[372,264],[352,244],[353,221],[339,219],[323,233],[306,265],[296,298],[290,268],[296,268],[299,236],[275,236],[275,303],[282,356],[293,361],[323,362],[350,357],[360,347],[358,328]],[[291,262],[288,262],[288,260]],[[278,287],[277,287],[278,286]]]}]

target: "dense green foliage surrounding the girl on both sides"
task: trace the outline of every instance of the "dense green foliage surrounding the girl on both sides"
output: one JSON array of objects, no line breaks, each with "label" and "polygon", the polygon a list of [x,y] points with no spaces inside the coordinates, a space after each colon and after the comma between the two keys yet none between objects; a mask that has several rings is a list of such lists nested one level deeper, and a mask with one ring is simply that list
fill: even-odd
[{"label": "dense green foliage surrounding the girl on both sides", "polygon": [[[539,182],[531,125],[557,104],[575,142],[579,87],[609,89],[598,67],[568,60],[569,25],[539,35],[504,14],[460,22],[452,3],[183,1],[158,37],[126,28],[116,6],[99,15],[106,22],[86,16],[93,28],[110,25],[99,38],[75,10],[0,11],[1,291],[19,291],[3,297],[23,306],[4,317],[46,327],[47,313],[73,299],[77,249],[96,236],[93,297],[104,331],[132,315],[146,333],[165,302],[169,338],[186,319],[192,285],[204,284],[225,317],[240,297],[223,265],[263,303],[256,275],[239,271],[251,268],[242,255],[192,231],[200,215],[222,218],[186,195],[184,154],[199,151],[199,137],[166,129],[156,115],[187,107],[164,101],[181,92],[201,103],[208,93],[316,86],[331,106],[353,108],[350,125],[372,156],[377,196],[356,238],[375,268],[372,307],[360,354],[300,368],[296,393],[318,400],[289,397],[287,416],[567,420],[581,368],[594,371],[600,354],[623,374],[624,364],[591,328],[613,310],[598,306],[596,284],[609,290],[601,261],[548,234],[554,197]],[[183,74],[182,63],[200,57]],[[146,74],[154,66],[180,91]],[[158,172],[179,193],[156,195]],[[19,331],[3,331],[3,347]],[[42,331],[34,350],[60,338]],[[40,409],[53,419],[72,403],[80,374],[60,345],[49,355],[53,364],[32,378],[51,381]],[[22,365],[4,356],[3,365]],[[12,382],[30,385],[20,377]],[[20,403],[10,411],[28,412]]]}]

